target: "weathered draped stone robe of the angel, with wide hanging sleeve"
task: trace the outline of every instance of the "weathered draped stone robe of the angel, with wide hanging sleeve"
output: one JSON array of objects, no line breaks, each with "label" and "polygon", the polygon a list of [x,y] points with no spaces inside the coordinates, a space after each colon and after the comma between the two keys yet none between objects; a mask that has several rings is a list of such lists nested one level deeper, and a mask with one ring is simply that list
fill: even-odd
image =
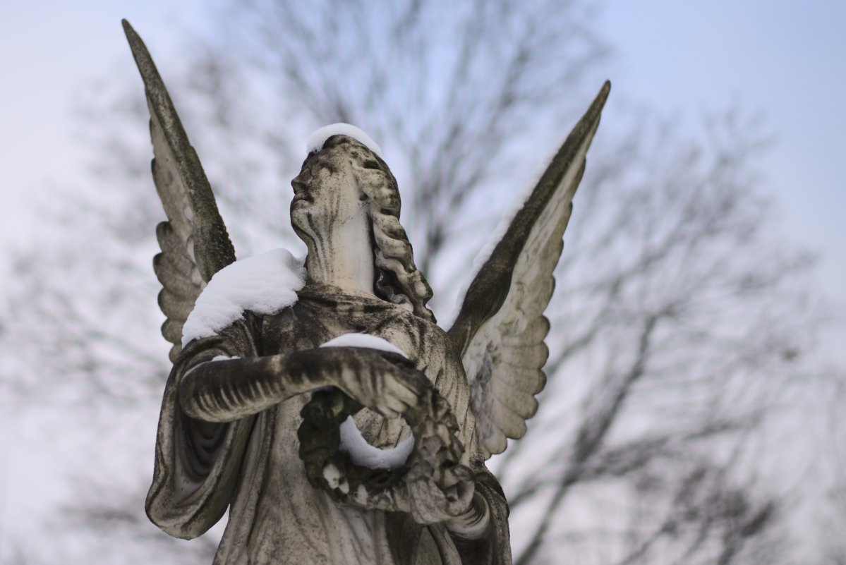
[{"label": "weathered draped stone robe of the angel, with wide hanging sleeve", "polygon": [[[201,362],[218,355],[244,358],[316,348],[349,332],[376,335],[403,349],[452,406],[466,447],[462,463],[475,470],[475,496],[490,508],[484,543],[450,535],[443,524],[415,524],[409,514],[342,506],[312,487],[297,439],[299,412],[310,394],[228,424],[192,420],[179,407],[179,381]],[[355,420],[376,447],[393,447],[409,435],[403,420],[385,420],[368,409]],[[162,401],[146,507],[160,528],[186,539],[211,528],[228,508],[228,525],[214,561],[219,565],[511,562],[508,508],[478,453],[470,388],[446,334],[383,300],[343,296],[325,288],[304,289],[296,304],[276,315],[247,312],[219,335],[184,348]]]}]

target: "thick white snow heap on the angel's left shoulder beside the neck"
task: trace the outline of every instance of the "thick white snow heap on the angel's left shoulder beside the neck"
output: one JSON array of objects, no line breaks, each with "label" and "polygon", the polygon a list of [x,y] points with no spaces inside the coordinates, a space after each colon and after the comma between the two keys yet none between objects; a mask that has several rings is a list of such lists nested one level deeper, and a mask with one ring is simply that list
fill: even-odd
[{"label": "thick white snow heap on the angel's left shoulder beside the neck", "polygon": [[182,327],[182,347],[209,337],[239,320],[244,311],[275,314],[297,301],[305,285],[305,266],[288,250],[248,257],[222,268],[197,297]]}]

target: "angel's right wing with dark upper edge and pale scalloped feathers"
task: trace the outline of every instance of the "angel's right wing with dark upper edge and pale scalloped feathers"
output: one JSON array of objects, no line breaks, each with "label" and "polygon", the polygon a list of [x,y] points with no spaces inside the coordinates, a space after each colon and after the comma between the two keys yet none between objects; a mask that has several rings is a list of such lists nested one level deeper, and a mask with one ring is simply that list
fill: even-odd
[{"label": "angel's right wing with dark upper edge and pale scalloped feathers", "polygon": [[547,377],[543,365],[552,297],[552,272],[563,249],[573,195],[585,172],[585,154],[599,126],[611,84],[576,124],[508,230],[470,283],[448,334],[470,380],[479,445],[485,457],[502,453],[507,438],[525,434],[535,395]]}]

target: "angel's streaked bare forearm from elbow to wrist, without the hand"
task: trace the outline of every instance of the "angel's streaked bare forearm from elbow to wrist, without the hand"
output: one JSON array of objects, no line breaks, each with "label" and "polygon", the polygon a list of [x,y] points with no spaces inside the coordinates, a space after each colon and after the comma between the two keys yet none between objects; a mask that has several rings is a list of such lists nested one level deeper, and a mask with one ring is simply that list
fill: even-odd
[{"label": "angel's streaked bare forearm from elbow to wrist, without the hand", "polygon": [[[321,352],[322,353],[322,352]],[[179,403],[192,418],[228,422],[256,414],[301,392],[332,384],[331,354],[310,351],[208,361],[179,383]]]}]

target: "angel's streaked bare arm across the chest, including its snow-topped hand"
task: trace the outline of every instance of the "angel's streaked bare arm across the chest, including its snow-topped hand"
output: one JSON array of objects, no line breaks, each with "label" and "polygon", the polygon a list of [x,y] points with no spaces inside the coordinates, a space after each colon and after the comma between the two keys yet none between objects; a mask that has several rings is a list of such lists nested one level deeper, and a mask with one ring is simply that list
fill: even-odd
[{"label": "angel's streaked bare arm across the chest, including its snow-topped hand", "polygon": [[421,387],[415,372],[419,373],[397,354],[366,348],[315,348],[205,361],[179,383],[179,403],[196,420],[228,422],[302,392],[334,386],[390,417],[417,402]]}]

